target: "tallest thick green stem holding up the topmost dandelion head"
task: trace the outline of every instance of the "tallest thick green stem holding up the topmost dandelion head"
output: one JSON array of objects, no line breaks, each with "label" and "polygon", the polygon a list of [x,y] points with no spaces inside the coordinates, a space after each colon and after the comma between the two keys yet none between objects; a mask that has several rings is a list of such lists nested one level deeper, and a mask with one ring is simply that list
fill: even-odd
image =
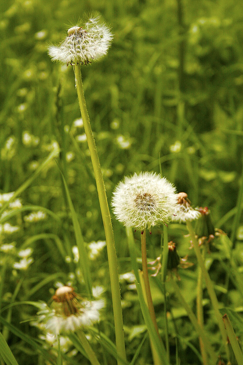
[{"label": "tallest thick green stem holding up the topmost dandelion head", "polygon": [[74,73],[76,80],[76,87],[78,93],[78,102],[80,106],[80,111],[84,123],[84,130],[87,137],[87,142],[90,151],[90,157],[92,160],[92,165],[95,173],[95,180],[97,185],[97,191],[100,202],[101,215],[104,223],[105,237],[107,243],[107,253],[109,262],[109,273],[111,279],[111,294],[112,294],[112,304],[115,322],[115,334],[116,334],[116,349],[117,349],[117,363],[121,364],[119,357],[126,361],[126,351],[125,351],[125,341],[123,332],[123,319],[121,310],[121,296],[120,296],[120,284],[117,268],[117,258],[115,241],[113,235],[113,229],[111,224],[111,216],[109,213],[109,207],[107,202],[107,196],[105,193],[105,185],[101,172],[100,161],[96,150],[95,139],[93,137],[92,129],[90,126],[89,115],[86,108],[86,103],[84,99],[84,89],[81,78],[80,65],[74,65]]}]

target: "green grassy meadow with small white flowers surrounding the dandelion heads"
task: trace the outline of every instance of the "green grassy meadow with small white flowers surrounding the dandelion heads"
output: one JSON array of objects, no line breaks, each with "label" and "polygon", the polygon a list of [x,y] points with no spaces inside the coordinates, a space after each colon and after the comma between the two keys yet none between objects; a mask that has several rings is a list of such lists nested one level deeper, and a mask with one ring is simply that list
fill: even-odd
[{"label": "green grassy meadow with small white flowers surrounding the dandelion heads", "polygon": [[[108,247],[74,71],[47,54],[85,14],[101,15],[113,34],[107,54],[81,72],[115,238],[126,347],[118,364],[243,365],[240,0],[0,1],[1,365],[117,364]],[[158,333],[141,232],[126,230],[111,207],[119,181],[140,172],[161,174],[210,211],[188,227],[173,220],[147,232]],[[170,241],[191,264],[168,264]],[[102,298],[99,319],[64,334],[39,323],[62,286],[78,301]]]}]

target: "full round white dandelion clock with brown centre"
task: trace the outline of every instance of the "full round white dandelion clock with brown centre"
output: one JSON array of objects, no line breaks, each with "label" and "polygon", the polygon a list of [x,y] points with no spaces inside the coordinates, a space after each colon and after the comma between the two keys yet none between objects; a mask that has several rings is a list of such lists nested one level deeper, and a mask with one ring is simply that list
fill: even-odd
[{"label": "full round white dandelion clock with brown centre", "polygon": [[116,218],[139,230],[168,223],[175,210],[177,195],[166,178],[153,172],[136,173],[121,181],[112,198]]}]

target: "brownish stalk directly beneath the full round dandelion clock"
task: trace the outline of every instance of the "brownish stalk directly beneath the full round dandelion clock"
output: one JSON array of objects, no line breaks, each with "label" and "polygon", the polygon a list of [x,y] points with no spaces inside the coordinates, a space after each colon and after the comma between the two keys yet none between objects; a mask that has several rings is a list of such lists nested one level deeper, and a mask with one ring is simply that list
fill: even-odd
[{"label": "brownish stalk directly beneath the full round dandelion clock", "polygon": [[[144,280],[144,287],[147,297],[147,303],[148,303],[148,310],[150,313],[150,317],[154,323],[155,330],[158,333],[159,336],[159,328],[156,321],[155,311],[154,311],[154,304],[151,296],[150,291],[150,284],[148,279],[148,265],[147,265],[147,252],[146,252],[146,230],[144,229],[143,232],[141,232],[141,249],[142,249],[142,268],[143,268],[143,280]],[[160,336],[159,336],[160,338]]]}]

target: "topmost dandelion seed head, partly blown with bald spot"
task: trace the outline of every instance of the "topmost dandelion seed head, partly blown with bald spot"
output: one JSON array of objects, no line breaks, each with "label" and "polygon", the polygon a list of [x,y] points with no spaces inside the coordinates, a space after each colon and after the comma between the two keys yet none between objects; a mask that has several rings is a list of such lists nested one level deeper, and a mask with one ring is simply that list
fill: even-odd
[{"label": "topmost dandelion seed head, partly blown with bald spot", "polygon": [[50,46],[48,53],[52,61],[61,61],[67,66],[81,63],[88,65],[107,53],[112,34],[99,17],[90,18],[83,27],[75,26],[67,31],[67,37],[57,47]]}]

